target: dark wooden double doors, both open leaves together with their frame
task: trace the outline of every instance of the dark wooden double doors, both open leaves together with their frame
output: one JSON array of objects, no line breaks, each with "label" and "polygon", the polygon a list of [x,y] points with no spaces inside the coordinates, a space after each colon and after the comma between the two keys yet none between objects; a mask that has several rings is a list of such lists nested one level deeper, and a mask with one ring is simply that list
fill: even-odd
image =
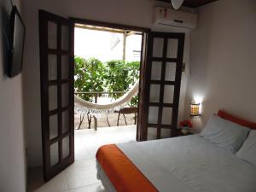
[{"label": "dark wooden double doors, both open leaves together with their frame", "polygon": [[[136,140],[175,137],[177,132],[177,110],[183,64],[183,33],[150,32],[147,28],[136,26],[67,19],[39,10],[45,181],[55,177],[74,162],[74,100],[76,99],[74,96],[74,32],[76,24],[87,27],[100,26],[125,32],[141,32]],[[171,73],[168,73],[168,70],[171,70]],[[95,102],[96,99],[93,101]],[[80,102],[84,103],[84,101]],[[97,131],[94,132],[97,133]],[[88,155],[87,158],[93,156],[93,154]]]}]

